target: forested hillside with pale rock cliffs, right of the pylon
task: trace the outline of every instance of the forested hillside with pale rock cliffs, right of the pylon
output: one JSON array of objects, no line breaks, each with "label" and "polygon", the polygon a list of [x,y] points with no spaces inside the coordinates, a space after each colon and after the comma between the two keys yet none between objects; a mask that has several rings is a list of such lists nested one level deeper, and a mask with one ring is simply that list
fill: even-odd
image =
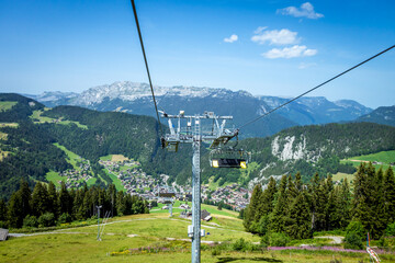
[{"label": "forested hillside with pale rock cliffs, right of the pylon", "polygon": [[373,123],[312,125],[246,139],[241,145],[259,164],[249,174],[253,183],[264,184],[270,175],[296,172],[308,182],[316,172],[320,176],[356,172],[351,165],[340,164],[341,158],[395,149],[395,128]]}]

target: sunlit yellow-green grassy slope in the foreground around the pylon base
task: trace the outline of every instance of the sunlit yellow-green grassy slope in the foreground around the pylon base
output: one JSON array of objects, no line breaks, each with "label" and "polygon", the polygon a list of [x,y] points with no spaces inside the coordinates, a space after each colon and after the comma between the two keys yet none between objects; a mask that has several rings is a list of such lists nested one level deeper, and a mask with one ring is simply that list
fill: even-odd
[{"label": "sunlit yellow-green grassy slope in the foreground around the pylon base", "polygon": [[[227,226],[240,225],[241,221],[222,218]],[[43,233],[32,237],[11,238],[0,242],[0,262],[190,262],[190,243],[184,241],[168,241],[166,238],[188,239],[187,226],[190,220],[178,217],[168,218],[167,215],[150,214],[115,218],[113,224],[106,225],[102,241],[97,241],[97,227],[81,227],[60,230],[57,233]],[[211,232],[202,240],[226,241],[244,238],[257,242],[259,238],[250,233],[238,231],[233,227],[221,226],[210,228]],[[239,227],[237,227],[239,228]],[[61,233],[63,232],[63,233]],[[137,235],[131,237],[129,235]],[[128,237],[129,236],[129,237]],[[142,247],[183,248],[178,252],[140,253],[136,255],[110,256],[111,252],[124,251]],[[207,245],[203,245],[207,248]],[[347,254],[328,251],[270,251],[256,253],[223,252],[213,256],[210,250],[202,251],[202,262],[329,262],[341,259],[343,263],[368,262],[368,254]],[[391,262],[394,256],[381,255],[382,262]]]}]

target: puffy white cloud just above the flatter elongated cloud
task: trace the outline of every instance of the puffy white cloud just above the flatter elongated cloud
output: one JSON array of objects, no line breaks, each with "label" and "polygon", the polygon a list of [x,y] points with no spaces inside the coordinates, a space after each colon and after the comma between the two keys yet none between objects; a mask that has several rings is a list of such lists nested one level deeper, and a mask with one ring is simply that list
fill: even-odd
[{"label": "puffy white cloud just above the flatter elongated cloud", "polygon": [[269,42],[271,45],[290,45],[296,44],[300,39],[296,37],[297,32],[292,32],[286,28],[281,31],[273,30],[273,31],[264,31],[267,27],[259,26],[251,37],[252,42],[257,42],[258,44],[264,44]]}]

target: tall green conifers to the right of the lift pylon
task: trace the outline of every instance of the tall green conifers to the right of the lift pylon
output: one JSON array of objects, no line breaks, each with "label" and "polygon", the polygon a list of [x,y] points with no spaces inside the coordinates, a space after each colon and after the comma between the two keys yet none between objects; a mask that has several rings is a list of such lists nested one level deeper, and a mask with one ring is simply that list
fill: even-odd
[{"label": "tall green conifers to the right of the lift pylon", "polygon": [[[315,231],[346,230],[361,226],[380,239],[395,221],[395,178],[392,168],[377,171],[361,164],[353,180],[353,190],[345,179],[334,185],[331,175],[314,175],[303,184],[301,174],[283,175],[280,183],[270,178],[262,190],[257,184],[249,205],[240,213],[247,231],[266,236],[283,233],[291,239],[307,239]],[[361,237],[362,238],[362,237]]]}]

